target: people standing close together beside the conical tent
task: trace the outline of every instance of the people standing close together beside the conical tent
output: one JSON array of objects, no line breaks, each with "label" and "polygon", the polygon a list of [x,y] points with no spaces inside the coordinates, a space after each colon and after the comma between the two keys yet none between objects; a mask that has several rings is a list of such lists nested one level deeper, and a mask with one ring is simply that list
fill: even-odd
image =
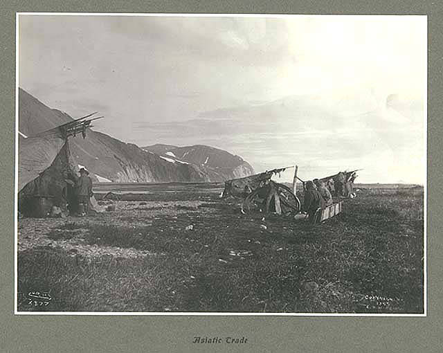
[{"label": "people standing close together beside the conical tent", "polygon": [[66,181],[66,201],[69,212],[80,216],[89,212],[89,199],[93,196],[92,179],[85,168],[81,168],[80,177],[71,172],[65,175]]}]

